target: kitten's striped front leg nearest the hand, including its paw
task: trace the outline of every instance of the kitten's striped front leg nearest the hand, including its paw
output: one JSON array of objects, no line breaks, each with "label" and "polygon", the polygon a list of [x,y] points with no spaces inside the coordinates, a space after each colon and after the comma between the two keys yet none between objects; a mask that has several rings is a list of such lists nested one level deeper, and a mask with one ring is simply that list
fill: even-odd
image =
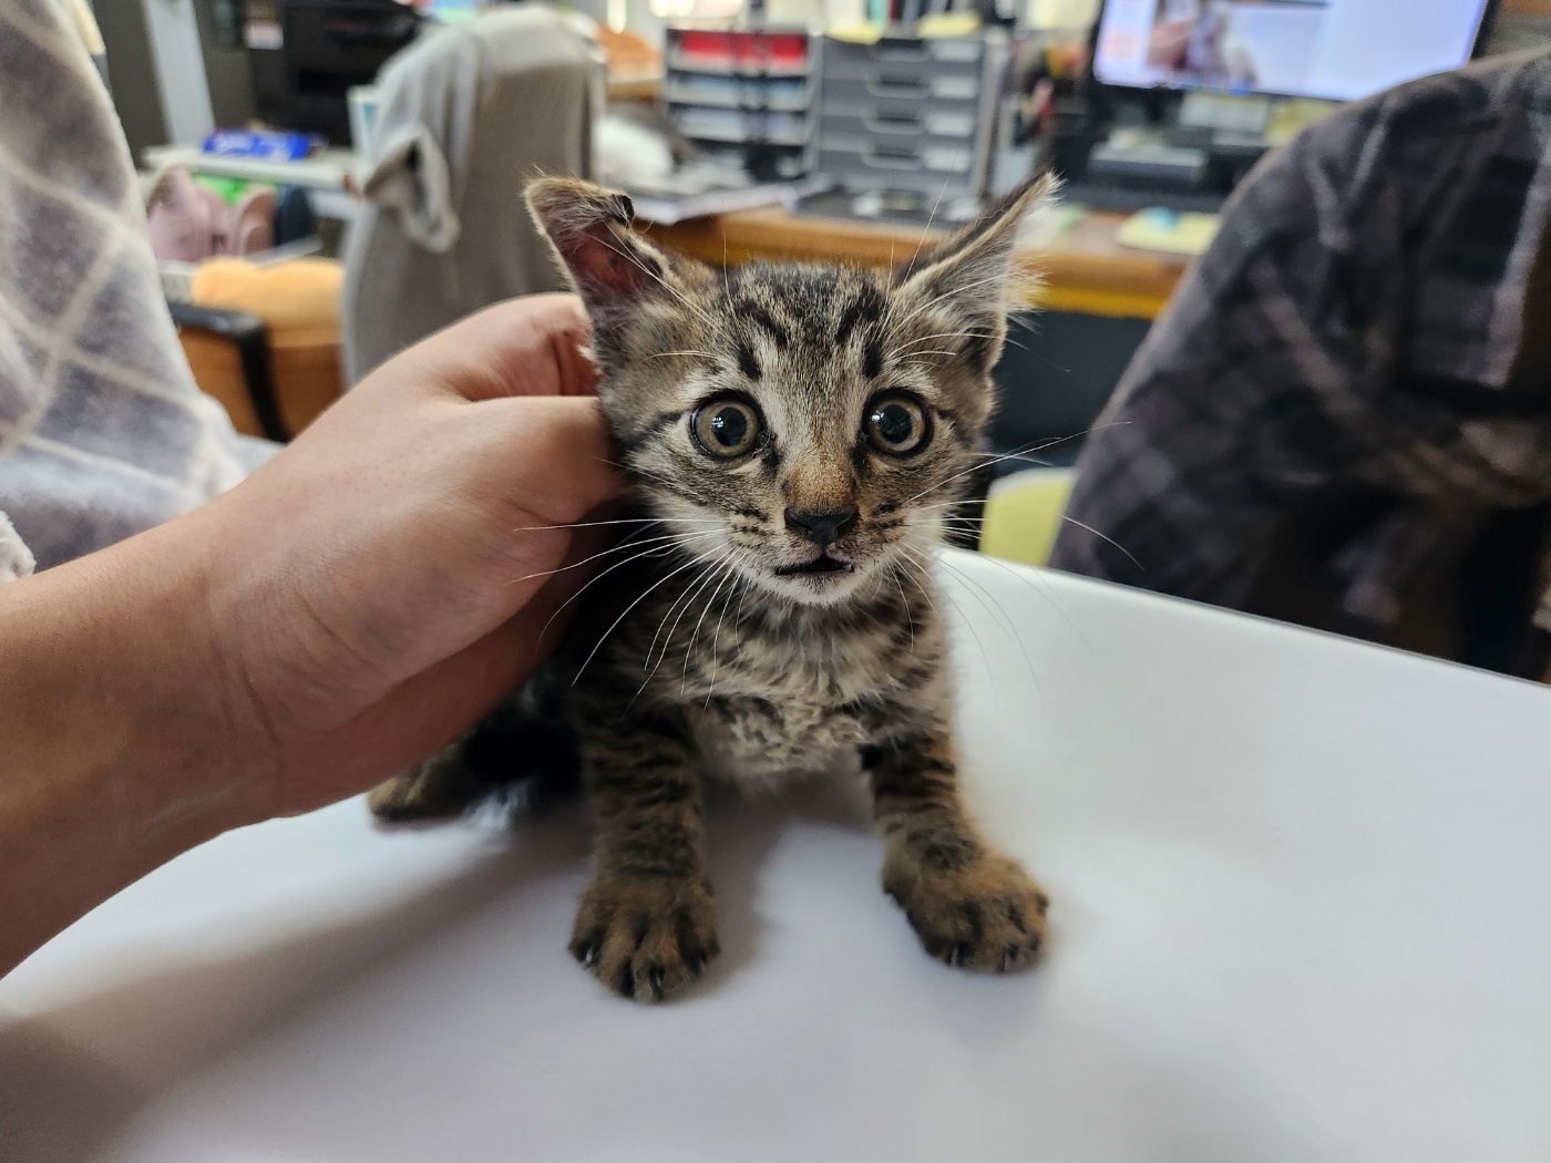
[{"label": "kitten's striped front leg nearest the hand, including its paw", "polygon": [[645,726],[585,729],[582,758],[597,847],[571,954],[614,992],[659,1002],[720,952],[700,775]]}]

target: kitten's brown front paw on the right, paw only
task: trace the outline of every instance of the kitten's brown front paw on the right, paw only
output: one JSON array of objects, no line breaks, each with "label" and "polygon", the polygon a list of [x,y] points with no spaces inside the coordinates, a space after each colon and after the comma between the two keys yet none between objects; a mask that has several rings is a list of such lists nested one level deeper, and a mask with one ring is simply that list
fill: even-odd
[{"label": "kitten's brown front paw on the right, paw only", "polygon": [[883,889],[904,909],[926,952],[948,965],[999,974],[1024,969],[1044,940],[1050,901],[1005,856],[951,870],[890,856]]}]

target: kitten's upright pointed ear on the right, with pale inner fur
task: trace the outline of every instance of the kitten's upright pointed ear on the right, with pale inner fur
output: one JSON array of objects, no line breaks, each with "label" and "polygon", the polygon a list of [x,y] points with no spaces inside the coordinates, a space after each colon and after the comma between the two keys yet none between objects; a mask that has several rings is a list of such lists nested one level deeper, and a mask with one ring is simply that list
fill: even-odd
[{"label": "kitten's upright pointed ear on the right, with pale inner fur", "polygon": [[1038,284],[1038,276],[1025,271],[1014,279],[1013,250],[1056,205],[1058,186],[1052,174],[1025,181],[957,234],[895,271],[895,293],[993,316],[999,330],[1014,282],[1016,288]]}]

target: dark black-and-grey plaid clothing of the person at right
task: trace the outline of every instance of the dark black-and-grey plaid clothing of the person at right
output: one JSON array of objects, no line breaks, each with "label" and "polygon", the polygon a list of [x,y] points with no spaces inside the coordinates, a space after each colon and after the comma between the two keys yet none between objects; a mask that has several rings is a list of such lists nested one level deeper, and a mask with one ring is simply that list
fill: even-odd
[{"label": "dark black-and-grey plaid clothing of the person at right", "polygon": [[1551,316],[1525,323],[1551,304],[1548,160],[1546,53],[1402,85],[1266,158],[1095,425],[1067,510],[1090,529],[1052,564],[1244,608],[1289,515],[1362,496],[1323,564],[1383,637],[1446,546],[1551,498]]}]

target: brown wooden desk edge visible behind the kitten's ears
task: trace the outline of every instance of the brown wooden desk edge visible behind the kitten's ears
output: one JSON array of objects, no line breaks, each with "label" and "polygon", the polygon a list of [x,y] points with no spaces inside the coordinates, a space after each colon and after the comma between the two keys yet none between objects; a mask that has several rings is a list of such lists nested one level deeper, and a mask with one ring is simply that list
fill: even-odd
[{"label": "brown wooden desk edge visible behind the kitten's ears", "polygon": [[[1115,242],[1120,214],[1090,214],[1025,261],[1044,270],[1039,305],[1083,315],[1157,318],[1188,259]],[[793,214],[780,206],[647,226],[658,242],[710,264],[749,259],[887,265],[907,259],[937,231]]]}]

